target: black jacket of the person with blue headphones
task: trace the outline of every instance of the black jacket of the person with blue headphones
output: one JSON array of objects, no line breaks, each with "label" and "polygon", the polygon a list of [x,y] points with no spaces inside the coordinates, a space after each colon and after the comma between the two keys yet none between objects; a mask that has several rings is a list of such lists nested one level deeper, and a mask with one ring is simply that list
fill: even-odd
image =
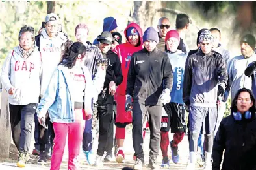
[{"label": "black jacket of the person with blue headphones", "polygon": [[[224,153],[225,150],[225,153]],[[256,170],[256,119],[236,121],[232,114],[220,123],[212,149],[212,170]]]}]

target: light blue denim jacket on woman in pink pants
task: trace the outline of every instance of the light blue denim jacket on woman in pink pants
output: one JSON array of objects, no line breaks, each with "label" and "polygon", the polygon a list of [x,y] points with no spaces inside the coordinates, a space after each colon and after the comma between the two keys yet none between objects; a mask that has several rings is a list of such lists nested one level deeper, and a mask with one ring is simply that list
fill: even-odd
[{"label": "light blue denim jacket on woman in pink pants", "polygon": [[[82,66],[86,78],[86,87],[84,90],[84,111],[86,115],[92,114],[92,98],[96,92],[92,83],[92,76],[86,66]],[[70,72],[67,67],[59,65],[53,73],[51,81],[44,97],[40,100],[37,114],[46,114],[49,112],[51,122],[56,123],[73,123],[74,115],[74,81],[71,80]]]}]

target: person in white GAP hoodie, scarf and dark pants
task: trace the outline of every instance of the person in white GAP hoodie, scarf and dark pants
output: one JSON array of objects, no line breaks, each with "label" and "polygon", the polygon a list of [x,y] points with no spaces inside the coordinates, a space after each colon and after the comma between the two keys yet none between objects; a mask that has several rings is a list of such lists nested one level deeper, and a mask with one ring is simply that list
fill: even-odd
[{"label": "person in white GAP hoodie, scarf and dark pants", "polygon": [[17,166],[29,160],[32,124],[41,87],[41,57],[34,45],[34,28],[19,31],[19,45],[5,58],[1,81],[8,92],[12,139],[19,151]]}]

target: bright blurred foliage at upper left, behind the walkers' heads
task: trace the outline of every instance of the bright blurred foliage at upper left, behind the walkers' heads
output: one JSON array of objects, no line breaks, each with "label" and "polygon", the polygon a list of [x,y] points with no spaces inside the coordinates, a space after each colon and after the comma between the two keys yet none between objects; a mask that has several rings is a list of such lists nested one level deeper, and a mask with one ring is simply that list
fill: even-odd
[{"label": "bright blurred foliage at upper left, behind the walkers' heads", "polygon": [[[62,30],[75,41],[75,27],[86,23],[89,27],[88,41],[101,34],[103,19],[112,16],[117,20],[118,30],[127,26],[133,1],[57,1],[55,13],[60,17]],[[16,47],[19,30],[23,25],[34,27],[36,34],[47,14],[47,1],[5,1],[0,3],[0,66],[8,52]],[[123,32],[122,32],[123,33]]]}]

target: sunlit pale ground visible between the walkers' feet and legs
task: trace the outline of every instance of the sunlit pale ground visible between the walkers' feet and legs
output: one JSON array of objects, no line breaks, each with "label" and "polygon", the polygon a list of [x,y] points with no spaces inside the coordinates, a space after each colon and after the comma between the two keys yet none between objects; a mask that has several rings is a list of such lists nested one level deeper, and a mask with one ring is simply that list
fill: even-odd
[{"label": "sunlit pale ground visible between the walkers' feet and legs", "polygon": [[[124,144],[124,153],[125,153],[125,163],[124,164],[118,164],[116,163],[114,160],[112,162],[106,162],[104,165],[104,168],[101,169],[105,169],[105,170],[115,170],[115,169],[122,169],[122,167],[133,167],[134,161],[133,161],[133,142],[132,142],[132,137],[131,137],[131,127],[129,129],[127,129],[127,136],[125,138],[125,144]],[[172,134],[170,136],[173,136]],[[31,149],[30,149],[30,153],[32,153],[32,149],[34,147],[34,140],[31,141]],[[94,142],[94,151],[97,150],[97,140],[95,140]],[[146,140],[144,143],[144,153],[145,153],[145,161],[146,161],[146,165],[148,164],[148,160],[149,160],[149,132],[147,132],[146,134]],[[171,160],[171,167],[168,168],[170,170],[182,170],[185,169],[186,167],[186,162],[188,161],[188,138],[187,136],[184,137],[183,142],[180,143],[179,145],[179,154],[180,154],[180,162],[179,164],[173,164],[172,160]],[[162,154],[159,151],[159,158],[157,159],[158,164],[161,164],[162,161]],[[171,155],[170,151],[169,151],[169,155]],[[12,145],[12,149],[10,151],[10,157],[11,159],[8,160],[0,160],[0,169],[1,170],[16,170],[19,169],[18,167],[16,167],[16,158],[18,157],[18,153],[14,147],[14,145]],[[44,167],[42,165],[37,165],[36,161],[37,161],[38,157],[36,156],[32,156],[31,155],[31,160],[29,160],[29,163],[27,164],[27,166],[25,168],[23,168],[24,170],[44,170],[44,169],[49,169],[49,164],[46,164]],[[66,147],[65,152],[64,152],[64,158],[62,161],[62,168],[61,169],[68,169],[67,168],[67,163],[68,162],[68,148]],[[96,167],[93,167],[91,165],[88,165],[86,163],[85,160],[85,156],[83,154],[83,152],[81,151],[80,155],[79,155],[79,162],[80,162],[80,167],[81,169],[99,169]],[[147,167],[145,167],[144,169],[148,169]]]}]

